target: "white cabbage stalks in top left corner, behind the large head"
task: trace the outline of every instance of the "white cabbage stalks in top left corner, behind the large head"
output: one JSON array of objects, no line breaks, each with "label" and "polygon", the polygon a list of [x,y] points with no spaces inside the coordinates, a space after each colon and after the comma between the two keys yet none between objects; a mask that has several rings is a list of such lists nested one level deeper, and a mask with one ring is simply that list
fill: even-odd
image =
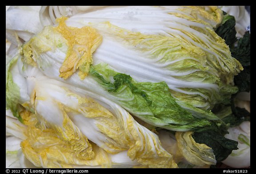
[{"label": "white cabbage stalks in top left corner, behind the large head", "polygon": [[17,36],[22,42],[28,41],[44,26],[56,24],[56,18],[105,7],[108,6],[6,6],[6,39],[18,45]]}]

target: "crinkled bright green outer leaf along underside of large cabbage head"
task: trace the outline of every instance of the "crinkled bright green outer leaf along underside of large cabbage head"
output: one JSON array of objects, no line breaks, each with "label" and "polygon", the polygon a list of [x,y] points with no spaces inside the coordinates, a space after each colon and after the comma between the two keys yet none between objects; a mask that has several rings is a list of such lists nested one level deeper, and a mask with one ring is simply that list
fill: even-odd
[{"label": "crinkled bright green outer leaf along underside of large cabbage head", "polygon": [[[98,71],[103,75],[100,75]],[[131,76],[116,73],[107,65],[101,64],[92,66],[90,74],[96,77],[100,85],[111,95],[120,98],[116,101],[118,104],[147,123],[170,130],[183,131],[209,125],[207,120],[198,119],[181,108],[164,82],[137,83]],[[111,78],[114,80],[113,83],[106,80]],[[124,98],[126,100],[123,100]]]}]

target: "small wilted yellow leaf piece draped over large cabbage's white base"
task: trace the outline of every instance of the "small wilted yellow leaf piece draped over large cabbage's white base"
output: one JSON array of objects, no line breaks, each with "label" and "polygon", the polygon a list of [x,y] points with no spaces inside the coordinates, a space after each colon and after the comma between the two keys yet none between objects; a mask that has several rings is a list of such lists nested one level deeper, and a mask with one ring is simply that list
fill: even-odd
[{"label": "small wilted yellow leaf piece draped over large cabbage's white base", "polygon": [[66,17],[57,19],[59,25],[54,28],[68,41],[68,52],[60,67],[60,77],[67,79],[79,69],[79,77],[83,80],[90,71],[92,53],[102,42],[102,36],[92,27],[68,27]]}]

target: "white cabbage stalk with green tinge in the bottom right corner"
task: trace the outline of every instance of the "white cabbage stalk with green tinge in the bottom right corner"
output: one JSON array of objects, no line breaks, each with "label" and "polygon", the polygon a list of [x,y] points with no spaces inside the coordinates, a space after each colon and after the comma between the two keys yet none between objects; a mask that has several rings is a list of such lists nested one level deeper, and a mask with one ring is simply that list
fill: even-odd
[{"label": "white cabbage stalk with green tinge in the bottom right corner", "polygon": [[227,166],[243,168],[251,166],[251,122],[244,121],[237,127],[228,128],[225,137],[238,141],[238,149],[233,150],[227,159],[222,161]]}]

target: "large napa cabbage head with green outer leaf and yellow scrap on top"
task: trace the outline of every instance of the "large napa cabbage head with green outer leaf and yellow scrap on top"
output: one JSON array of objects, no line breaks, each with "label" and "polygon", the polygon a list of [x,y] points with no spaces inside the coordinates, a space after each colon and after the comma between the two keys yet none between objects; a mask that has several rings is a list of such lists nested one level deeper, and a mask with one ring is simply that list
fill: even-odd
[{"label": "large napa cabbage head with green outer leaf and yellow scrap on top", "polygon": [[243,70],[214,31],[222,12],[131,6],[112,13],[112,8],[58,19],[57,26],[24,44],[24,62],[108,96],[158,127],[186,131],[218,120],[211,109],[229,102],[238,90],[233,77]]}]

